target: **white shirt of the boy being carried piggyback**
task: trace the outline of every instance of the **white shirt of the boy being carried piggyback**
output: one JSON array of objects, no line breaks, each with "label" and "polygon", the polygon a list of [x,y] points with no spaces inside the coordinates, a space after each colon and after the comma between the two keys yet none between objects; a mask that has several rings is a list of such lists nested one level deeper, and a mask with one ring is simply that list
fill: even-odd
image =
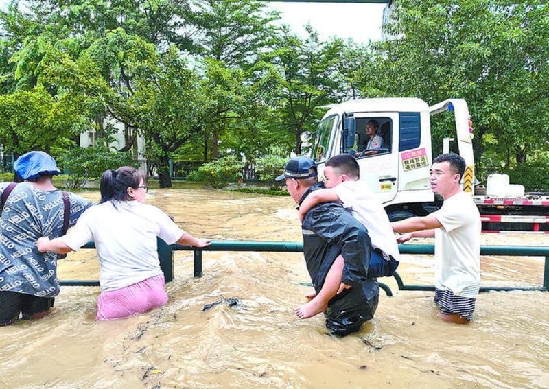
[{"label": "white shirt of the boy being carried piggyback", "polygon": [[367,229],[372,245],[399,260],[397,238],[383,205],[365,181],[345,181],[334,187],[338,198]]}]

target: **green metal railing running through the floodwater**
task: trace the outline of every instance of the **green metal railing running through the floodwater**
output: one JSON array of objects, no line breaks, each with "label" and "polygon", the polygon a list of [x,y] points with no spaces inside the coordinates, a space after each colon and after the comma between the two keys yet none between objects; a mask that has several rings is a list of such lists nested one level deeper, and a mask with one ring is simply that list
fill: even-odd
[{"label": "green metal railing running through the floodwater", "polygon": [[[93,243],[84,248],[95,248]],[[186,250],[194,252],[194,276],[202,275],[202,252],[204,251],[255,251],[255,252],[303,252],[303,243],[291,241],[212,241],[211,246],[196,248],[179,244],[167,245],[158,239],[160,266],[166,282],[174,279],[174,251]],[[434,254],[432,244],[399,244],[401,254]],[[480,292],[489,290],[549,290],[549,247],[548,246],[481,246],[480,255],[505,255],[511,257],[545,257],[543,284],[539,287],[480,287]],[[434,290],[433,285],[405,285],[398,273],[394,274],[399,290]],[[61,285],[98,286],[99,281],[60,281]],[[387,294],[393,296],[390,287],[379,283]]]}]

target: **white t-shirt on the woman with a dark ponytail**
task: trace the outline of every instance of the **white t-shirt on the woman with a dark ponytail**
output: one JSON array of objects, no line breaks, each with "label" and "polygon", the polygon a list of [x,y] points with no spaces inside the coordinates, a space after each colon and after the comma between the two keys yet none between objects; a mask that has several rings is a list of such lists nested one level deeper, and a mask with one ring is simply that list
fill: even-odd
[{"label": "white t-shirt on the woman with a dark ponytail", "polygon": [[108,201],[86,210],[61,239],[75,251],[95,242],[101,290],[106,292],[161,275],[156,237],[174,244],[184,233],[157,207]]}]

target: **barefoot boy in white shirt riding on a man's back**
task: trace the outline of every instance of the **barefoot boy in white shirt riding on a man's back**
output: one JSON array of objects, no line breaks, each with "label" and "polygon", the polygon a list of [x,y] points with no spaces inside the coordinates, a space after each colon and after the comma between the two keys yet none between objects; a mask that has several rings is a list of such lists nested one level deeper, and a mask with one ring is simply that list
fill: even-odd
[{"label": "barefoot boy in white shirt riding on a man's back", "polygon": [[[349,154],[332,156],[324,167],[325,188],[314,191],[299,207],[299,220],[321,202],[341,202],[351,215],[368,230],[372,242],[372,251],[368,268],[368,277],[392,276],[399,265],[399,248],[383,205],[365,181],[359,180],[360,167]],[[307,294],[312,298],[307,304],[296,308],[296,315],[302,319],[310,318],[325,311],[328,301],[348,285],[341,282],[344,264],[342,258],[336,259],[334,266],[326,276],[322,290],[318,294]]]}]

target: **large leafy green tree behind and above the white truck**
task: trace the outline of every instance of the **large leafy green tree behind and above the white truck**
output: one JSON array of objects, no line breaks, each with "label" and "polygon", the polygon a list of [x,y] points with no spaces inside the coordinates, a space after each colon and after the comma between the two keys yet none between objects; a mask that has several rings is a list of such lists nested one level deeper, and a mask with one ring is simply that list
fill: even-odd
[{"label": "large leafy green tree behind and above the white truck", "polygon": [[[366,97],[462,97],[476,158],[493,152],[507,169],[548,150],[549,7],[509,0],[395,0],[393,37],[372,45]],[[445,126],[433,128],[440,144]]]}]

